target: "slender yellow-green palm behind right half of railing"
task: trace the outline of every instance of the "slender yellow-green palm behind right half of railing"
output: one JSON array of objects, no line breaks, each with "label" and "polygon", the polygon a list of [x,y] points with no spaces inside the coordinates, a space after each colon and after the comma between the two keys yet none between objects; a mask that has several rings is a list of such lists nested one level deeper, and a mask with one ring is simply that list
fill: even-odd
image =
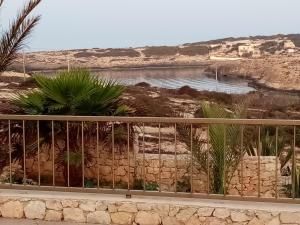
[{"label": "slender yellow-green palm behind right half of railing", "polygon": [[[203,115],[206,118],[243,118],[245,110],[236,107],[234,112],[215,104],[203,104]],[[233,173],[245,154],[245,148],[240,144],[242,127],[231,124],[212,124],[209,126],[207,139],[198,128],[179,126],[180,139],[188,149],[192,148],[194,167],[211,177],[213,193],[226,193]]]}]

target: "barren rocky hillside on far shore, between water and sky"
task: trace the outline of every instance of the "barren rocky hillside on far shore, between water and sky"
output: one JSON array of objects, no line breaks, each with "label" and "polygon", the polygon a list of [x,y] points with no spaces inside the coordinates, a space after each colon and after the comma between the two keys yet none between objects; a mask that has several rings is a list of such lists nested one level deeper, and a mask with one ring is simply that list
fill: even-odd
[{"label": "barren rocky hillside on far shore, between water and sky", "polygon": [[[243,76],[269,88],[300,90],[300,34],[226,38],[179,46],[80,49],[27,53],[29,72],[70,67],[94,70],[141,67],[218,68],[221,75]],[[22,57],[13,69],[22,70]]]}]

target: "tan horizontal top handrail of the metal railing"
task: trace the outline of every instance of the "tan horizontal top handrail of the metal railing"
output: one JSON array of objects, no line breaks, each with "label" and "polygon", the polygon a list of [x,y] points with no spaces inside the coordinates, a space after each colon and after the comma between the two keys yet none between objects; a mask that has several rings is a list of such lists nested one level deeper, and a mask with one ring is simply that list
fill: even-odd
[{"label": "tan horizontal top handrail of the metal railing", "polygon": [[7,115],[0,120],[26,121],[86,121],[86,122],[142,122],[142,123],[189,123],[189,124],[236,124],[236,125],[284,125],[300,126],[300,120],[283,119],[220,119],[220,118],[173,118],[173,117],[117,117],[117,116],[50,116],[50,115]]}]

